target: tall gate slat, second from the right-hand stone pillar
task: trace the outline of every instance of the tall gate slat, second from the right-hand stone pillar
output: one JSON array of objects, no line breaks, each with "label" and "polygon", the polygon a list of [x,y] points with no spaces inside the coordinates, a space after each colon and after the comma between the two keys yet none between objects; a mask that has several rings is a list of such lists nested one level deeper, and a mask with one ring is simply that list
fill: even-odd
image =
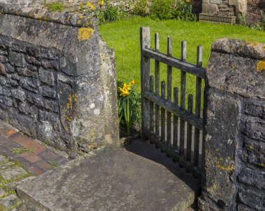
[{"label": "tall gate slat, second from the right-hand stone pillar", "polygon": [[[181,42],[181,61],[186,61],[187,58],[187,44],[185,41]],[[185,109],[185,90],[186,90],[186,73],[181,71],[181,109]],[[180,143],[179,155],[184,155],[185,142],[185,121],[180,120]]]}]

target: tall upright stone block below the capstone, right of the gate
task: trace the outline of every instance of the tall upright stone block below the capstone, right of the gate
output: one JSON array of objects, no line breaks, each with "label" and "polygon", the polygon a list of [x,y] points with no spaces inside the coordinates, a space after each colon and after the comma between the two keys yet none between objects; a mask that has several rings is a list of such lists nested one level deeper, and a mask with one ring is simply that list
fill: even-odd
[{"label": "tall upright stone block below the capstone, right of the gate", "polygon": [[[223,209],[232,209],[236,196],[236,145],[239,135],[241,102],[232,95],[208,89],[204,115],[205,173],[204,189]],[[225,102],[225,103],[224,103]]]}]

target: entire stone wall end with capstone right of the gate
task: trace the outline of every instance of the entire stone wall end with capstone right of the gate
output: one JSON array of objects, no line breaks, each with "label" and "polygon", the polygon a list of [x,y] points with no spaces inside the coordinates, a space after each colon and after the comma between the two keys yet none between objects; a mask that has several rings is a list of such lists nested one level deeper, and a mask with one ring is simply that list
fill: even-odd
[{"label": "entire stone wall end with capstone right of the gate", "polygon": [[215,41],[205,102],[200,210],[264,210],[265,44]]}]

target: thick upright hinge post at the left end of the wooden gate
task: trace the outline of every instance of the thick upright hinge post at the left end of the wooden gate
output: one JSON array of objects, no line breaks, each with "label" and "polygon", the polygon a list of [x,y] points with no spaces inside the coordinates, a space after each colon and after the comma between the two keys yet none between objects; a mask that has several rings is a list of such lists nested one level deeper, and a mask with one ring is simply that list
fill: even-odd
[{"label": "thick upright hinge post at the left end of the wooden gate", "polygon": [[145,91],[149,89],[150,58],[144,56],[143,49],[150,47],[150,29],[141,27],[141,98],[142,98],[142,140],[145,139],[144,131],[150,128],[149,100],[144,97]]}]

